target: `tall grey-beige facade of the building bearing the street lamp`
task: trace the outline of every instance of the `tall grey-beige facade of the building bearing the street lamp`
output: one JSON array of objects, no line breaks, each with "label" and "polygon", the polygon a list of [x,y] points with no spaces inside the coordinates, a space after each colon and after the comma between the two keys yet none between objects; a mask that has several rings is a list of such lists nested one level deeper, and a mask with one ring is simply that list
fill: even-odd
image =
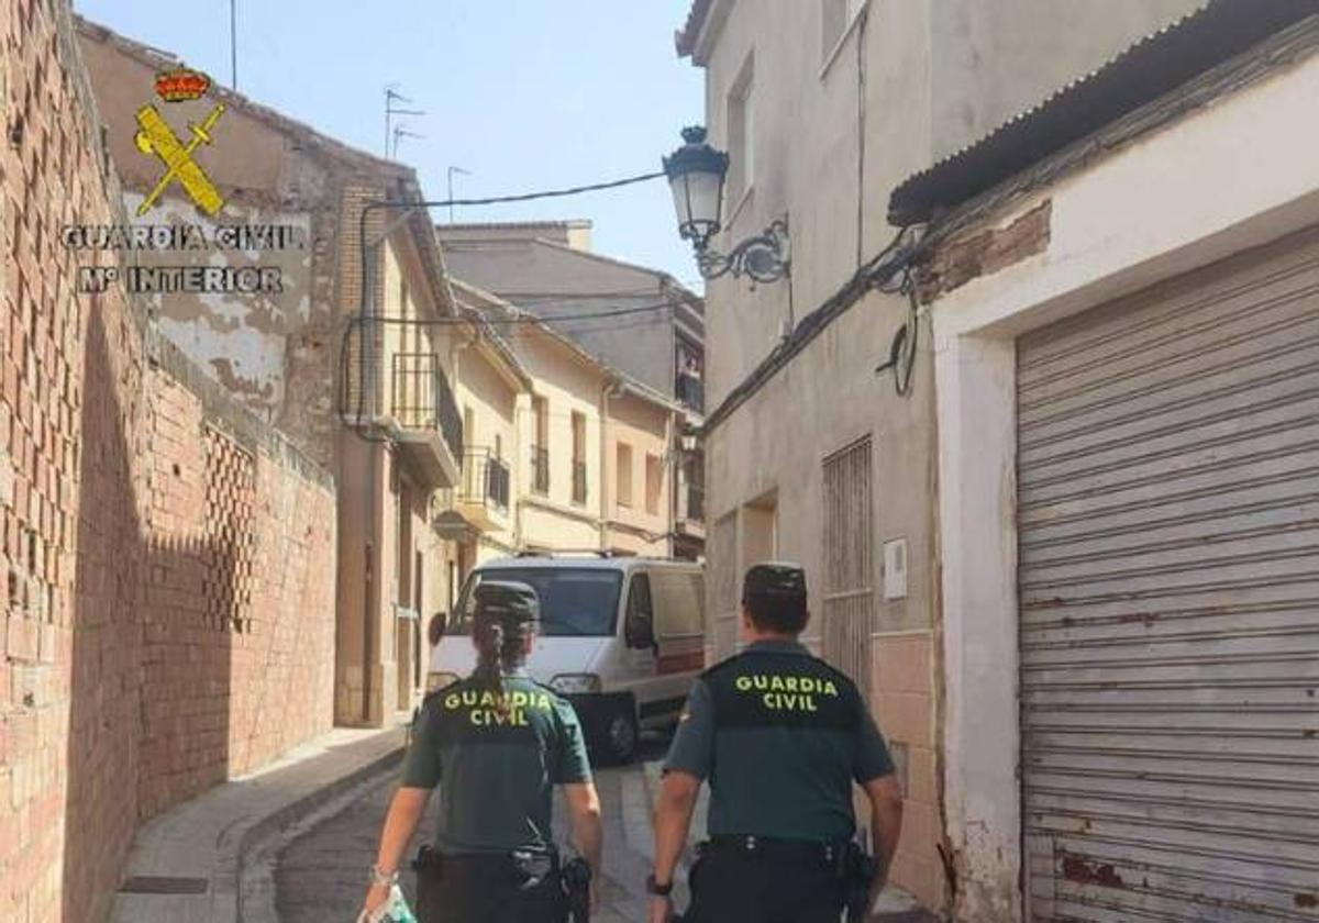
[{"label": "tall grey-beige facade of the building bearing the street lamp", "polygon": [[[679,34],[706,70],[711,144],[732,158],[712,247],[776,219],[791,243],[790,278],[707,287],[710,646],[735,649],[747,566],[806,566],[807,641],[867,690],[897,754],[906,821],[892,879],[931,908],[947,906],[960,857],[943,835],[929,318],[909,322],[905,297],[869,291],[823,327],[803,319],[894,237],[886,206],[901,179],[1196,5],[711,0]],[[832,7],[856,15],[831,26]],[[877,372],[904,323],[915,335],[906,396]],[[776,351],[787,357],[766,365]]]}]

